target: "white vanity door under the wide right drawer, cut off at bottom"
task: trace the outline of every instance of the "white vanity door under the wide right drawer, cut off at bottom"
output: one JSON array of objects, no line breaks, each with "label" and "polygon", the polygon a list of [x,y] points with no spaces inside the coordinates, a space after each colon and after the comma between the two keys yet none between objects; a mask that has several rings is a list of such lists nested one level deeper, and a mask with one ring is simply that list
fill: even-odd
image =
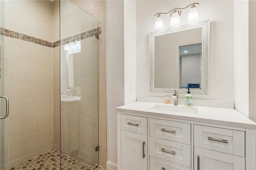
[{"label": "white vanity door under the wide right drawer, cut off at bottom", "polygon": [[245,158],[194,147],[195,170],[244,170]]}]

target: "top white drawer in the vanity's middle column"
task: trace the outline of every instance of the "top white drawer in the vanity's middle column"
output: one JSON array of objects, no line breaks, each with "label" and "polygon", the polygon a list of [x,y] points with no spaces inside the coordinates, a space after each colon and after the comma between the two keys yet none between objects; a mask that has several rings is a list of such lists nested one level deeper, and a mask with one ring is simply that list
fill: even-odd
[{"label": "top white drawer in the vanity's middle column", "polygon": [[190,123],[153,118],[149,123],[150,136],[191,145]]}]

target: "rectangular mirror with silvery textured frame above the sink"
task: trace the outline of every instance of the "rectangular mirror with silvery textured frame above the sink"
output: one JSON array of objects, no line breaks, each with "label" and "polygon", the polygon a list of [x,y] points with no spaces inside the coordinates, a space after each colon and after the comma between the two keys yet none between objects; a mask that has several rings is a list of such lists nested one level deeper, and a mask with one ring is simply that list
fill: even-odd
[{"label": "rectangular mirror with silvery textured frame above the sink", "polygon": [[207,95],[209,24],[202,21],[150,33],[150,92]]}]

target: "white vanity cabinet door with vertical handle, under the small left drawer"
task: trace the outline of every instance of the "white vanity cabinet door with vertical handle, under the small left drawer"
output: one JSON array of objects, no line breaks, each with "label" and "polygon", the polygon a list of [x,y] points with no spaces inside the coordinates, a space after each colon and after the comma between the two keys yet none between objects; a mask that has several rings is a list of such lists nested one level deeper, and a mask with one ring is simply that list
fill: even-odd
[{"label": "white vanity cabinet door with vertical handle, under the small left drawer", "polygon": [[146,170],[148,168],[147,136],[121,130],[122,170]]}]

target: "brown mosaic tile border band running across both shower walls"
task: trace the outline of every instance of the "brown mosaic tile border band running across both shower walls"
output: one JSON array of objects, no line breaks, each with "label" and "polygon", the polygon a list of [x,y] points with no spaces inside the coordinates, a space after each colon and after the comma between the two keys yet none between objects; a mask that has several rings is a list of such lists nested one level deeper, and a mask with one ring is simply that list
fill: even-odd
[{"label": "brown mosaic tile border band running across both shower walls", "polygon": [[50,42],[50,41],[46,41],[44,39],[40,39],[40,38],[36,38],[30,35],[26,35],[23,33],[19,33],[16,31],[12,31],[9,29],[5,29],[5,28],[0,28],[0,35],[4,35],[5,37],[10,37],[10,38],[15,38],[15,39],[20,39],[22,41],[27,41],[27,42],[31,42],[34,44],[38,44],[38,45],[42,45],[42,46],[46,46],[46,47],[50,47],[50,48],[54,48],[54,47],[58,47],[60,45],[64,45],[66,43],[69,43],[71,40],[75,40],[76,38],[79,39],[86,39],[89,37],[93,37],[96,34],[101,34],[101,27],[97,27],[85,32],[82,32],[80,34],[77,35],[73,35],[71,37],[67,37],[64,39],[61,39],[59,41],[55,41],[55,42]]}]

